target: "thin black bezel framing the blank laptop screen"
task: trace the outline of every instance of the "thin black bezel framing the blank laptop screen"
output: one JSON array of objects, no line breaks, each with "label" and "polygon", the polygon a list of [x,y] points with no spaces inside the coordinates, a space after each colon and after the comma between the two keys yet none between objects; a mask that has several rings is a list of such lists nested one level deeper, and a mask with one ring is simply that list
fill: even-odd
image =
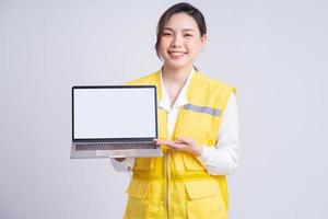
[{"label": "thin black bezel framing the blank laptop screen", "polygon": [[155,111],[155,138],[159,137],[159,123],[157,123],[157,88],[156,85],[73,85],[72,93],[72,141],[73,142],[101,142],[101,141],[139,141],[139,140],[152,140],[153,138],[74,138],[74,90],[77,89],[154,89],[154,111]]}]

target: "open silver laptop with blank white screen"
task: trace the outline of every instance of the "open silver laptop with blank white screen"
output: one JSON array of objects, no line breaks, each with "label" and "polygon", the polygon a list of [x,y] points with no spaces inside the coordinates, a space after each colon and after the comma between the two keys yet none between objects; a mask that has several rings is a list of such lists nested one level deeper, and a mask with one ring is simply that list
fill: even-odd
[{"label": "open silver laptop with blank white screen", "polygon": [[71,158],[162,157],[155,85],[72,87]]}]

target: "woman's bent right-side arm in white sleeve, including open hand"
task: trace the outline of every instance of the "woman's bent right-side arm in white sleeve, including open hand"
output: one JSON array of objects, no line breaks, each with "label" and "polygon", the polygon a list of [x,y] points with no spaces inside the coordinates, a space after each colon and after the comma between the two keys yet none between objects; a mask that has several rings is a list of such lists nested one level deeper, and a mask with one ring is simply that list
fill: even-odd
[{"label": "woman's bent right-side arm in white sleeve, including open hand", "polygon": [[231,94],[215,147],[198,145],[192,138],[178,137],[176,140],[156,139],[157,145],[166,145],[173,150],[194,154],[211,175],[227,175],[238,162],[238,114],[236,96]]}]

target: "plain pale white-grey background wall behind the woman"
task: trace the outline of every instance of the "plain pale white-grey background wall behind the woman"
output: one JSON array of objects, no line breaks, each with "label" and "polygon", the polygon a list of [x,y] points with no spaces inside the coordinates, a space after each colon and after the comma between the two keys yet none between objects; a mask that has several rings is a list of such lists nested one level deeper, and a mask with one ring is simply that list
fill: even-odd
[{"label": "plain pale white-grey background wall behind the woman", "polygon": [[[327,1],[191,2],[209,30],[197,67],[238,89],[231,218],[328,218]],[[173,3],[0,1],[0,218],[121,218],[129,176],[69,158],[70,89],[160,69]]]}]

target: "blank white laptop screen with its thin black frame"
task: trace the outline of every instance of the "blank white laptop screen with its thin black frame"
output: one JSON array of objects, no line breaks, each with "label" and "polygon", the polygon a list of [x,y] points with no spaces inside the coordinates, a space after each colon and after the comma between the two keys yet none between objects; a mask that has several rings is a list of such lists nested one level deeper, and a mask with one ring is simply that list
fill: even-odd
[{"label": "blank white laptop screen with its thin black frame", "polygon": [[73,140],[156,138],[153,85],[73,87]]}]

